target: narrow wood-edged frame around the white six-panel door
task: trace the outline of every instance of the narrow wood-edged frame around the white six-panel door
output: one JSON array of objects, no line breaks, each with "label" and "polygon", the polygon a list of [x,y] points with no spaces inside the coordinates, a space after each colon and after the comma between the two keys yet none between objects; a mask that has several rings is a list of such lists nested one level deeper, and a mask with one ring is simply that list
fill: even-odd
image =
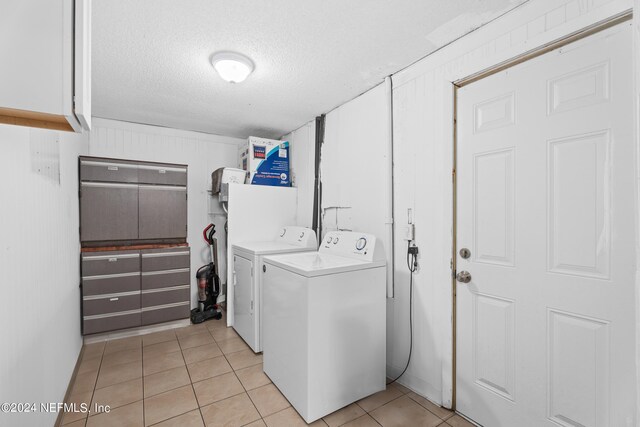
[{"label": "narrow wood-edged frame around the white six-panel door", "polygon": [[[452,216],[452,243],[451,243],[451,302],[452,302],[452,307],[451,307],[451,325],[452,325],[452,361],[451,361],[451,373],[452,373],[452,394],[451,394],[451,409],[453,411],[456,411],[456,389],[457,389],[457,281],[456,281],[456,273],[457,273],[457,246],[456,246],[456,240],[457,240],[457,194],[458,194],[458,183],[457,183],[457,175],[456,175],[456,169],[457,169],[457,151],[458,151],[458,125],[457,125],[457,120],[458,120],[458,90],[461,89],[464,86],[467,86],[471,83],[477,82],[479,80],[482,80],[486,77],[489,77],[491,75],[494,75],[496,73],[499,73],[501,71],[504,71],[508,68],[511,68],[515,65],[521,64],[523,62],[526,62],[530,59],[533,58],[537,58],[538,56],[544,55],[545,53],[551,52],[553,50],[556,50],[560,47],[563,47],[567,44],[573,43],[575,41],[584,39],[586,37],[589,37],[593,34],[599,33],[603,30],[606,30],[607,28],[611,28],[615,25],[618,24],[622,24],[624,22],[628,22],[631,21],[634,17],[633,14],[633,9],[628,9],[624,12],[618,13],[616,15],[612,15],[602,21],[598,21],[596,23],[593,23],[591,25],[588,25],[584,28],[581,28],[577,31],[574,31],[572,33],[566,34],[565,36],[553,40],[549,43],[540,45],[540,46],[536,46],[533,49],[524,52],[520,55],[514,56],[510,59],[507,59],[505,61],[499,62],[495,65],[492,65],[488,68],[485,68],[483,70],[480,70],[478,72],[474,72],[466,77],[463,77],[461,79],[455,80],[453,82],[451,82],[452,85],[452,93],[453,93],[453,150],[452,150],[452,155],[453,155],[453,160],[452,160],[452,165],[453,165],[453,169],[451,171],[451,185],[452,185],[452,211],[451,211],[451,216]],[[635,34],[634,34],[634,38],[635,38]],[[638,49],[638,45],[636,45],[635,41],[634,41],[634,56],[636,58],[634,58],[634,62],[637,61],[637,57],[639,55],[639,53],[637,52]],[[637,75],[637,73],[640,70],[636,70],[635,75],[635,80],[633,82],[633,84],[640,86],[640,76]],[[640,101],[640,99],[639,99]],[[638,105],[638,103],[636,104],[636,112],[638,112],[638,110],[640,109],[640,105]],[[638,120],[638,118],[636,118],[636,120]],[[639,124],[636,122],[635,124],[636,129],[638,129]],[[636,144],[637,144],[637,138],[638,135],[635,136],[636,137]],[[638,151],[638,149],[636,148],[636,151]],[[637,153],[636,153],[636,157],[637,157]],[[636,189],[637,190],[637,189]],[[637,210],[637,209],[636,209]]]}]

